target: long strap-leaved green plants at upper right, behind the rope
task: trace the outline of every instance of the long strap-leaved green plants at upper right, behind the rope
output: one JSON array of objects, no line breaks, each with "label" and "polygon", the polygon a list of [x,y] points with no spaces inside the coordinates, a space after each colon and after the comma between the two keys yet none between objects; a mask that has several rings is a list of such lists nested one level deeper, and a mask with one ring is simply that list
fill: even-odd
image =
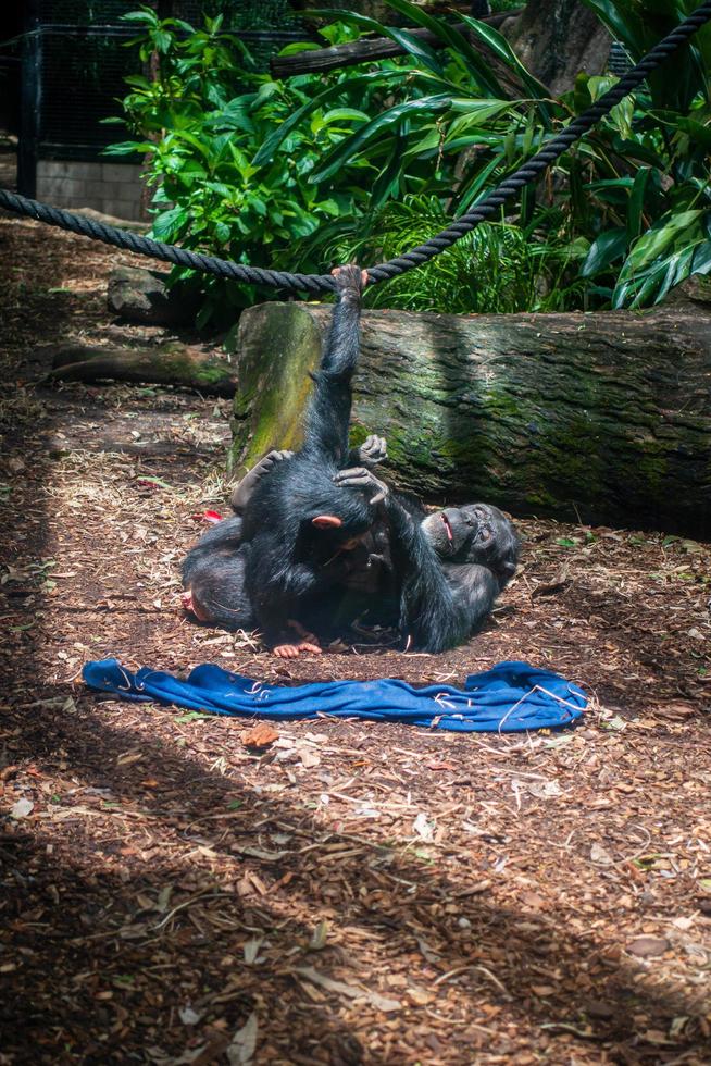
[{"label": "long strap-leaved green plants at upper right, behind the rope", "polygon": [[[582,75],[573,91],[550,100],[508,42],[486,24],[464,20],[488,50],[482,54],[452,25],[409,0],[389,0],[389,5],[446,47],[436,52],[407,30],[341,14],[360,30],[394,37],[408,53],[398,63],[409,70],[409,98],[382,109],[344,137],[311,177],[317,182],[332,176],[363,157],[379,166],[365,238],[376,228],[374,220],[384,203],[413,190],[438,195],[453,204],[448,210],[454,214],[465,211],[618,80]],[[635,0],[589,0],[589,7],[638,59],[694,4],[659,0],[654,17],[644,20],[644,25]],[[524,231],[534,218],[541,218],[542,200],[552,210],[544,212],[538,241],[550,245],[551,258],[557,249],[567,248],[569,264],[579,260],[578,283],[570,284],[569,278],[561,305],[578,299],[585,307],[649,306],[690,273],[711,269],[710,44],[711,30],[704,29],[693,47],[650,79],[649,91],[623,100],[558,160],[539,189],[524,191]],[[487,55],[496,58],[496,69]],[[502,67],[510,75],[507,85]],[[385,69],[382,64],[383,74]],[[511,82],[521,91],[515,99]],[[289,120],[290,126],[307,120],[311,107],[307,101]],[[274,132],[261,149],[262,159],[276,149],[283,134]],[[587,255],[581,256],[582,249]],[[462,264],[464,258],[460,257]],[[433,266],[433,276],[437,269]],[[442,269],[450,270],[451,263]],[[409,283],[397,284],[410,290]]]}]

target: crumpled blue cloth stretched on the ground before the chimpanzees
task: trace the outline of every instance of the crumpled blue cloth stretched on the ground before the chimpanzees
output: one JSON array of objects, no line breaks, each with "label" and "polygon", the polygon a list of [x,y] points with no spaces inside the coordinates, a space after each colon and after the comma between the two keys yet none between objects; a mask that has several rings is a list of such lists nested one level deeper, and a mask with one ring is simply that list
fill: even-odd
[{"label": "crumpled blue cloth stretched on the ground before the chimpanzees", "polygon": [[154,699],[215,715],[284,721],[325,714],[462,733],[571,726],[587,705],[577,685],[527,662],[499,662],[472,673],[463,690],[446,684],[413,689],[394,679],[273,685],[210,664],[182,681],[148,667],[134,674],[116,659],[87,662],[82,673],[89,687],[122,699]]}]

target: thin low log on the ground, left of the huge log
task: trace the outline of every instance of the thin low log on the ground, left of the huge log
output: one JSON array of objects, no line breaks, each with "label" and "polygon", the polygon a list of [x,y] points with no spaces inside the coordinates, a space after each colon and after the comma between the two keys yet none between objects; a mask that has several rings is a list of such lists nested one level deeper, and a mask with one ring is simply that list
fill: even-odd
[{"label": "thin low log on the ground, left of the huge log", "polygon": [[48,381],[146,382],[197,388],[210,396],[234,396],[237,377],[226,359],[190,345],[169,342],[151,348],[57,345]]}]

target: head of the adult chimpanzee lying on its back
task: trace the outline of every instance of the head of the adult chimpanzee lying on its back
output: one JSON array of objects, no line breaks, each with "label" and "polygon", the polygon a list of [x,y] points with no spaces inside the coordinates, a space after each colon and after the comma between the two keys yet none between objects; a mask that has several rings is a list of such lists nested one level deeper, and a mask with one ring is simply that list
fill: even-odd
[{"label": "head of the adult chimpanzee lying on its back", "polygon": [[429,515],[422,530],[442,561],[476,562],[499,577],[515,568],[519,538],[506,515],[490,504],[446,507]]}]

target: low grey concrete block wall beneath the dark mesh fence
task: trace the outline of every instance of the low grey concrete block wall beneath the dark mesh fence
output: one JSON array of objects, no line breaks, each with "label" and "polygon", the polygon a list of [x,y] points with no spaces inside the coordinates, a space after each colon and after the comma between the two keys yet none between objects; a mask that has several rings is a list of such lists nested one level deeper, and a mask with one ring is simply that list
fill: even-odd
[{"label": "low grey concrete block wall beneath the dark mesh fence", "polygon": [[126,222],[139,222],[144,219],[140,173],[140,163],[40,159],[36,199],[55,208],[92,208]]}]

